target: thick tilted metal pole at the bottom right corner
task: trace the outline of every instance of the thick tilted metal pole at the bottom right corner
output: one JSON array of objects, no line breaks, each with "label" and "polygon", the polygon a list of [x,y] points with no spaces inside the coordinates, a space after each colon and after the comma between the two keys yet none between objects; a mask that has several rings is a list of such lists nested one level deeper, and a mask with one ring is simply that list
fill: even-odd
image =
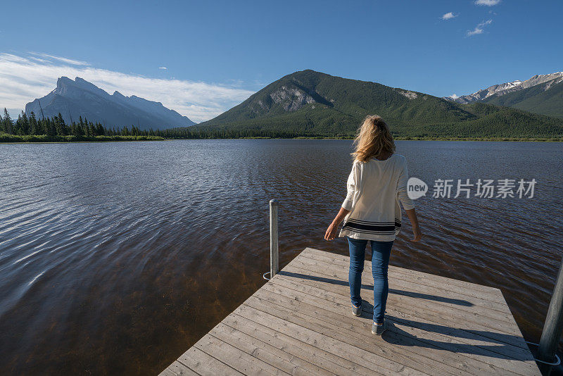
[{"label": "thick tilted metal pole at the bottom right corner", "polygon": [[[561,338],[563,330],[563,259],[559,266],[557,281],[553,287],[550,308],[548,315],[545,316],[543,331],[541,332],[540,344],[538,347],[538,359],[543,362],[555,362],[555,351]],[[540,371],[543,375],[550,375],[552,366],[540,363]]]}]

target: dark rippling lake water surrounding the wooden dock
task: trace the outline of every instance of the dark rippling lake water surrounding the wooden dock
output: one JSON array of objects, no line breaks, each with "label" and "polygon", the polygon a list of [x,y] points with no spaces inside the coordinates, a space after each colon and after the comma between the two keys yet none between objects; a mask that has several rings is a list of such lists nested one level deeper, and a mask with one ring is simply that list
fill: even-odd
[{"label": "dark rippling lake water surrounding the wooden dock", "polygon": [[[502,289],[538,341],[563,242],[563,145],[398,142],[410,175],[537,180],[532,199],[416,201],[391,263]],[[188,140],[0,145],[0,374],[152,375],[253,294],[268,269],[325,242],[351,143]],[[455,192],[455,191],[454,191]]]}]

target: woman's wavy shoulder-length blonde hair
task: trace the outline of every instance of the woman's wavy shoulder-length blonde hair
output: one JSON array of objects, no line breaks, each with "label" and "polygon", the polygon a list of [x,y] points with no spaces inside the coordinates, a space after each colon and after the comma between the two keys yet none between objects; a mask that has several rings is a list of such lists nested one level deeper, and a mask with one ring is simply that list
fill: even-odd
[{"label": "woman's wavy shoulder-length blonde hair", "polygon": [[393,135],[379,115],[366,116],[353,144],[355,151],[351,154],[360,162],[367,162],[373,157],[379,159],[385,152],[395,152]]}]

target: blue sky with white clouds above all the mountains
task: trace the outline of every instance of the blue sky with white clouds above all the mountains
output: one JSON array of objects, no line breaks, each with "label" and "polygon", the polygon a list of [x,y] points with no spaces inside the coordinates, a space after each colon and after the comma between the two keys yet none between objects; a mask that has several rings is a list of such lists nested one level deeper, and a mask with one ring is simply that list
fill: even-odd
[{"label": "blue sky with white clouds above all the mountains", "polygon": [[201,121],[303,69],[436,96],[563,70],[559,0],[9,1],[2,13],[0,106],[14,109],[63,74]]}]

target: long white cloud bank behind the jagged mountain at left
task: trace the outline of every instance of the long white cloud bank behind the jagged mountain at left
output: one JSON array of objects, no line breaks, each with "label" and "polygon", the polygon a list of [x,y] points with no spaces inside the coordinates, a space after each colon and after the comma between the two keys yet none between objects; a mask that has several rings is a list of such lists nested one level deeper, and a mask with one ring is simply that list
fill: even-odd
[{"label": "long white cloud bank behind the jagged mountain at left", "polygon": [[0,53],[0,106],[23,109],[27,102],[45,96],[58,77],[82,77],[112,94],[162,102],[167,108],[199,123],[214,118],[253,94],[233,85],[160,79],[94,68],[83,61],[47,54],[17,56]]}]

